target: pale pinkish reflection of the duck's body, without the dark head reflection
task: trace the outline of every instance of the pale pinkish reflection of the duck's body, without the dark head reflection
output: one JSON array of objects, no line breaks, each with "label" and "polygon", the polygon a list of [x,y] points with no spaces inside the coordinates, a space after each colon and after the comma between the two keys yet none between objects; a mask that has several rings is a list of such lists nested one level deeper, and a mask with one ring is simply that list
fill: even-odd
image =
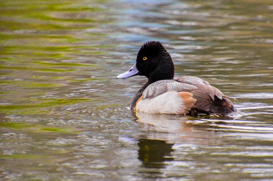
[{"label": "pale pinkish reflection of the duck's body, without the dark head reflection", "polygon": [[[167,143],[214,145],[219,142],[211,123],[195,124],[194,117],[175,114],[137,112],[137,122],[142,124],[146,139],[164,140]],[[199,125],[199,126],[194,126]],[[209,129],[207,129],[209,128]],[[143,137],[142,137],[143,138]]]}]

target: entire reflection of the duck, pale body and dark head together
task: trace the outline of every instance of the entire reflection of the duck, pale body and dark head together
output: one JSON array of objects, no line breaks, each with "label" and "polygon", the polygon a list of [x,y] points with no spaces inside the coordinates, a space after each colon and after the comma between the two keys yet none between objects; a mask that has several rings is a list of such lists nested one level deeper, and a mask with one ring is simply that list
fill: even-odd
[{"label": "entire reflection of the duck, pale body and dark head together", "polygon": [[137,112],[136,116],[136,121],[142,124],[145,131],[139,139],[138,158],[146,168],[165,167],[164,162],[174,160],[172,151],[178,147],[183,151],[183,148],[196,149],[200,145],[204,147],[204,145],[218,145],[221,142],[217,139],[219,134],[213,129],[207,129],[211,128],[210,124],[193,126],[186,123],[186,121],[194,121],[193,117],[143,112]]}]

